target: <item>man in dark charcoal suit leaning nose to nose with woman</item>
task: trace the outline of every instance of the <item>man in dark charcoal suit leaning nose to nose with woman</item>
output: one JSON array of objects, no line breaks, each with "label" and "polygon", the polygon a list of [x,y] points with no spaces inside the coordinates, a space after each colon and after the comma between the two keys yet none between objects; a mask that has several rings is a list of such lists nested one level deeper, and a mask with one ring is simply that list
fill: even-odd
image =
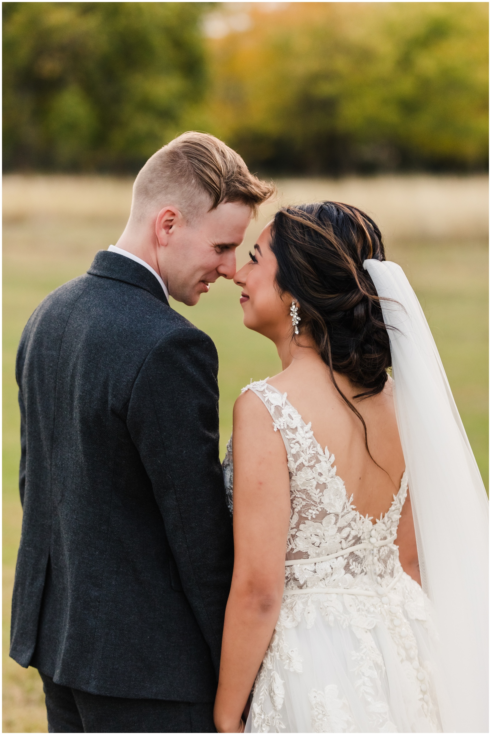
[{"label": "man in dark charcoal suit leaning nose to nose with woman", "polygon": [[10,655],[39,670],[50,732],[214,731],[233,567],[218,359],[168,298],[233,277],[271,193],[221,141],[178,137],[117,247],[23,331]]}]

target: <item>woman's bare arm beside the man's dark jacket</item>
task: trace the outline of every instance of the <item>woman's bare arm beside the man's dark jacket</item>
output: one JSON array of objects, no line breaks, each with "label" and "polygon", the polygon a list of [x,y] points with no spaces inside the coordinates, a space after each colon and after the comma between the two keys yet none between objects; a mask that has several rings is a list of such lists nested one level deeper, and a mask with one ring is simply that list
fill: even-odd
[{"label": "woman's bare arm beside the man's dark jacket", "polygon": [[233,409],[235,561],[225,611],[214,718],[237,732],[280,613],[290,519],[285,445],[261,399],[251,391]]}]

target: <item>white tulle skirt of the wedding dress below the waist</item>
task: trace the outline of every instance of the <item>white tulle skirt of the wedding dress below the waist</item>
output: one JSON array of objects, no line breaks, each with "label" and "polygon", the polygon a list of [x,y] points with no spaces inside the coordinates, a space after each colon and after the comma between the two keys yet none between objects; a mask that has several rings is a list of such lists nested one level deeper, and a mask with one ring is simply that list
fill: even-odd
[{"label": "white tulle skirt of the wedding dress below the waist", "polygon": [[382,598],[286,596],[246,732],[441,731],[428,628],[406,574]]}]

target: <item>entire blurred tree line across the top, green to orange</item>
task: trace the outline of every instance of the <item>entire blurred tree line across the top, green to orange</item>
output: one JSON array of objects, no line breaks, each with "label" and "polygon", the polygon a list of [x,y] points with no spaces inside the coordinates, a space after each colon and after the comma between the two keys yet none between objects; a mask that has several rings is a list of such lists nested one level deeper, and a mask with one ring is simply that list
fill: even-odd
[{"label": "entire blurred tree line across the top, green to orange", "polygon": [[487,166],[487,3],[3,12],[7,169],[136,171],[186,129],[272,173]]}]

